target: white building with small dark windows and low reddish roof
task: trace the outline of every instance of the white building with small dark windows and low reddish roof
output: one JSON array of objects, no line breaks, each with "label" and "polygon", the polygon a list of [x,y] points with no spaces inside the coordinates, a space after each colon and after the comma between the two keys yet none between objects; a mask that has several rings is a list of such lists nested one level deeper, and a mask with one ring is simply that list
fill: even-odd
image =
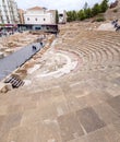
[{"label": "white building with small dark windows and low reddish roof", "polygon": [[56,24],[56,14],[46,8],[34,7],[24,14],[25,24]]}]

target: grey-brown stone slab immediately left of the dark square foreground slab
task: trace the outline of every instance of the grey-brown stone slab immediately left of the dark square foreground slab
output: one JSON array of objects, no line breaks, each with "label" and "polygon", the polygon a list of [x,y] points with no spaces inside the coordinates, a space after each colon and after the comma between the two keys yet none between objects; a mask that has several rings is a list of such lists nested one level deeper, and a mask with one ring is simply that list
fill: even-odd
[{"label": "grey-brown stone slab immediately left of the dark square foreground slab", "polygon": [[75,114],[60,116],[58,118],[58,123],[60,126],[63,142],[76,139],[84,134]]}]

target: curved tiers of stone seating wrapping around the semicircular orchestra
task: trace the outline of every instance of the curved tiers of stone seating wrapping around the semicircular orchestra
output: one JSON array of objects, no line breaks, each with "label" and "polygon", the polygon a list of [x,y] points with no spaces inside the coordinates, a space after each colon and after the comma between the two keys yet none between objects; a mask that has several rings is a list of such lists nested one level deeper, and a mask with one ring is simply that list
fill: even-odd
[{"label": "curved tiers of stone seating wrapping around the semicircular orchestra", "polygon": [[[80,34],[76,35],[74,33],[74,38],[68,42],[68,38],[72,36],[67,34],[68,31],[62,39],[62,45],[58,43],[55,48],[76,54],[80,60],[82,60],[77,69],[58,79],[35,80],[32,84],[34,90],[31,90],[31,86],[23,86],[17,90],[20,94],[26,94],[25,92],[31,90],[28,93],[31,96],[34,93],[41,93],[58,87],[65,81],[68,81],[67,84],[69,86],[84,80],[89,80],[88,82],[91,82],[91,79],[99,81],[99,78],[109,76],[113,71],[118,72],[120,70],[120,34],[115,32],[81,29]],[[59,38],[62,37],[59,36]]]}]

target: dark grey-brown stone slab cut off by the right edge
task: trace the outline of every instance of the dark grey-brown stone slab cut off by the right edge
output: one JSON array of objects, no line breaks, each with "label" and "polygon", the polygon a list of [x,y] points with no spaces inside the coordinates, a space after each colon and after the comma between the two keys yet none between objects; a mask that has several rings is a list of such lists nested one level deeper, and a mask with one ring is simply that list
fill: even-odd
[{"label": "dark grey-brown stone slab cut off by the right edge", "polygon": [[120,114],[120,95],[108,100],[108,104]]}]

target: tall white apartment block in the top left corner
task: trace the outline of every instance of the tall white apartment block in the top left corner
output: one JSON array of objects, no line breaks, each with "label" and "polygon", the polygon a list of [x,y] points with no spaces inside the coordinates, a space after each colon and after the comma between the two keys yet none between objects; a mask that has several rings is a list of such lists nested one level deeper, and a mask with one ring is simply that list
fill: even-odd
[{"label": "tall white apartment block in the top left corner", "polygon": [[14,0],[0,0],[0,23],[1,24],[17,24],[19,12],[17,4]]}]

